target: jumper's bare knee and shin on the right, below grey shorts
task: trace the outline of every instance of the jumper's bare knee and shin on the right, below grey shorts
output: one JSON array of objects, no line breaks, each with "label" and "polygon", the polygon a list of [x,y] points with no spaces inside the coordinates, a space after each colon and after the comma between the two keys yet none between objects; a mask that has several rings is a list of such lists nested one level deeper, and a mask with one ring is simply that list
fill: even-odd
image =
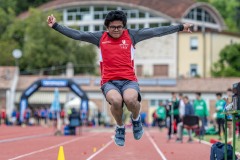
[{"label": "jumper's bare knee and shin on the right, below grey shorts", "polygon": [[132,88],[126,89],[123,93],[123,100],[127,109],[132,112],[133,119],[138,118],[141,108],[138,101],[138,92]]}]

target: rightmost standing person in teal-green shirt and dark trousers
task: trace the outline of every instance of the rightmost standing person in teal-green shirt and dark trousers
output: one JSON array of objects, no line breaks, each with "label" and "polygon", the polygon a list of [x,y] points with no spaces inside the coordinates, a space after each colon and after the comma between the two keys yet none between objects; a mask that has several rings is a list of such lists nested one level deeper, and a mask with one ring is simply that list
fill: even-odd
[{"label": "rightmost standing person in teal-green shirt and dark trousers", "polygon": [[216,121],[218,125],[218,136],[219,140],[221,140],[221,129],[225,130],[224,128],[224,114],[222,113],[224,110],[224,106],[226,105],[226,102],[222,99],[222,93],[216,93],[217,101],[215,104],[216,107]]}]

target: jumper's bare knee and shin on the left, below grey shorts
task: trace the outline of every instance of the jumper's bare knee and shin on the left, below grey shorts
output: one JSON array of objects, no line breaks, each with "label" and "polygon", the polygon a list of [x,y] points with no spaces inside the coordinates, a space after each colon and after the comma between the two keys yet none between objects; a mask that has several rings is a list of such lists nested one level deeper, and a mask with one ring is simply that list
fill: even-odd
[{"label": "jumper's bare knee and shin on the left, below grey shorts", "polygon": [[121,94],[118,91],[112,89],[107,92],[106,99],[111,104],[110,110],[117,125],[122,126],[123,125],[123,122],[122,122],[123,99]]}]

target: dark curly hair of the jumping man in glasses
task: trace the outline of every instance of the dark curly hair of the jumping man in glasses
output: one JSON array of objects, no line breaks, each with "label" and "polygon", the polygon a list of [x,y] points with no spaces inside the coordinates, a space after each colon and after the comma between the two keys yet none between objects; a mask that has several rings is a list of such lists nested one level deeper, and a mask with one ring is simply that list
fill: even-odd
[{"label": "dark curly hair of the jumping man in glasses", "polygon": [[120,10],[110,11],[105,17],[104,25],[108,27],[110,22],[113,21],[122,21],[123,27],[125,27],[127,24],[127,16],[123,11]]}]

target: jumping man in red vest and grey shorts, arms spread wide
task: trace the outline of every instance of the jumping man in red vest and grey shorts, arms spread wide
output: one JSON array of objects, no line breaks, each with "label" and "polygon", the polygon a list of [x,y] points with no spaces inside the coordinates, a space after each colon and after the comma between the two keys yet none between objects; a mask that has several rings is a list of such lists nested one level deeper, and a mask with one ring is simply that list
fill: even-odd
[{"label": "jumping man in red vest and grey shorts, arms spread wide", "polygon": [[125,127],[122,122],[123,103],[132,113],[133,136],[139,140],[143,127],[139,116],[141,95],[134,72],[134,48],[143,40],[167,34],[190,32],[191,24],[144,29],[126,29],[127,17],[123,11],[110,11],[104,21],[106,31],[82,32],[62,26],[56,18],[48,16],[49,27],[75,40],[92,43],[100,49],[101,90],[111,105],[111,113],[117,123],[114,141],[124,146]]}]

